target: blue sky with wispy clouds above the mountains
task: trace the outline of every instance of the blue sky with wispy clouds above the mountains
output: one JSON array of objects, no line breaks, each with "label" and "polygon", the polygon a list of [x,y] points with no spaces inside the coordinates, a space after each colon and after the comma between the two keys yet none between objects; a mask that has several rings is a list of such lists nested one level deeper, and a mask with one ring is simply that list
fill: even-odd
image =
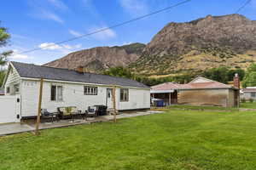
[{"label": "blue sky with wispy clouds above the mountains", "polygon": [[[207,14],[233,14],[246,0],[192,0],[167,12],[129,25],[84,37],[73,42],[44,48],[48,44],[131,20],[183,0],[9,0],[1,3],[1,26],[9,29],[9,46],[15,51],[10,60],[44,64],[68,53],[98,46],[148,43],[169,22],[183,22]],[[256,20],[256,0],[240,14]],[[41,47],[28,54],[22,51]]]}]

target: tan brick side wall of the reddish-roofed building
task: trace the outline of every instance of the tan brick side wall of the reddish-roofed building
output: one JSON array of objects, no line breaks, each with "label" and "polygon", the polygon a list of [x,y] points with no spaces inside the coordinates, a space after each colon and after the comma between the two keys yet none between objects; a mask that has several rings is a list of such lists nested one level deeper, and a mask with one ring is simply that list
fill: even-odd
[{"label": "tan brick side wall of the reddish-roofed building", "polygon": [[[229,104],[229,89],[191,89],[180,90],[177,96],[178,104],[189,105],[219,105]],[[231,103],[231,102],[230,102]]]}]

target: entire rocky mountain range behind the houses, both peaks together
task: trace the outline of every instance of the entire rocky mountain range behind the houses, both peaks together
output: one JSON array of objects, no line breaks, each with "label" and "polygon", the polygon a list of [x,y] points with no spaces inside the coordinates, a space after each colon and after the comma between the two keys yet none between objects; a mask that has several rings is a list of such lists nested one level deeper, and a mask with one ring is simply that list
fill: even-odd
[{"label": "entire rocky mountain range behind the houses, both peaks together", "polygon": [[184,23],[169,23],[147,45],[90,48],[46,65],[99,72],[128,66],[137,74],[172,76],[228,66],[247,69],[256,61],[256,21],[241,14],[208,15]]}]

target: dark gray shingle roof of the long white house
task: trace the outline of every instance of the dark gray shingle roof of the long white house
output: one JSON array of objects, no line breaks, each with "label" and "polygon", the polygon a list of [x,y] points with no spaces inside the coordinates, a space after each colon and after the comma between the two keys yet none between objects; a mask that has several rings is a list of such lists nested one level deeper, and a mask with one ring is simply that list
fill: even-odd
[{"label": "dark gray shingle roof of the long white house", "polygon": [[41,78],[49,80],[60,80],[68,82],[88,82],[106,85],[119,85],[124,87],[149,88],[141,82],[128,78],[111,77],[94,73],[79,73],[77,71],[53,68],[42,65],[25,64],[20,62],[11,62],[20,77]]}]

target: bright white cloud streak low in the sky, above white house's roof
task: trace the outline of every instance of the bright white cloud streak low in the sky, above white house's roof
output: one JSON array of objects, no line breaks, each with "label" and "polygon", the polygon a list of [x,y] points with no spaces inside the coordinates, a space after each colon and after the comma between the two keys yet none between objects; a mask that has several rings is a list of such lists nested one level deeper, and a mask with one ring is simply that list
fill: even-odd
[{"label": "bright white cloud streak low in the sky, above white house's roof", "polygon": [[46,49],[46,50],[65,50],[65,49],[78,49],[81,48],[81,44],[68,45],[68,44],[55,44],[54,42],[44,42],[38,45],[38,48]]}]

